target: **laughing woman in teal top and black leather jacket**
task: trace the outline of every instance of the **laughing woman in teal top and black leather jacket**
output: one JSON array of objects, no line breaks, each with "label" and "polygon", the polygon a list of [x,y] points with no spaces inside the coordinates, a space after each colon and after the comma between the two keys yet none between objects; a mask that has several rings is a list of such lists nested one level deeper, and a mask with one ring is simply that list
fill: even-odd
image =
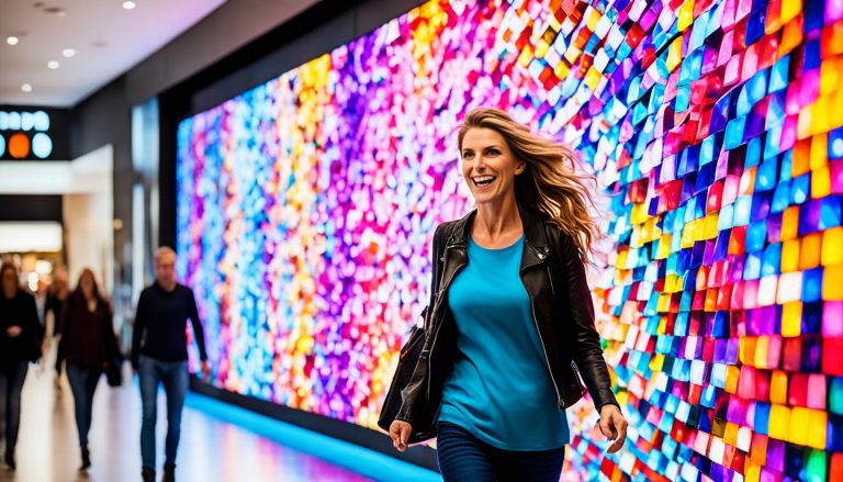
[{"label": "laughing woman in teal top and black leather jacket", "polygon": [[577,370],[609,452],[627,429],[585,279],[586,178],[571,150],[497,109],[470,112],[458,141],[476,210],[434,235],[428,332],[390,436],[404,451],[435,426],[446,481],[558,481]]}]

